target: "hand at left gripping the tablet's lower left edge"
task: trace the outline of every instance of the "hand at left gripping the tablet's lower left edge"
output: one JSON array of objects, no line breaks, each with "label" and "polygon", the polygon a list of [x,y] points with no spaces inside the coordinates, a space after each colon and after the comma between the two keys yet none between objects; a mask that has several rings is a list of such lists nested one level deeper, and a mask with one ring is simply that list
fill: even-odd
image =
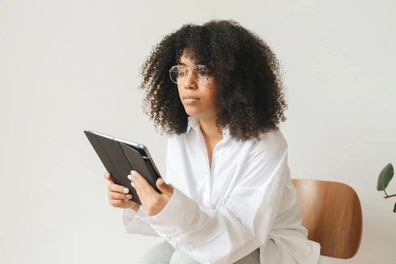
[{"label": "hand at left gripping the tablet's lower left edge", "polygon": [[138,212],[140,205],[130,201],[129,199],[132,198],[132,195],[128,194],[128,188],[125,188],[121,185],[115,184],[111,179],[111,175],[109,172],[105,173],[105,178],[109,181],[109,202],[111,206],[117,208],[130,208],[135,212]]}]

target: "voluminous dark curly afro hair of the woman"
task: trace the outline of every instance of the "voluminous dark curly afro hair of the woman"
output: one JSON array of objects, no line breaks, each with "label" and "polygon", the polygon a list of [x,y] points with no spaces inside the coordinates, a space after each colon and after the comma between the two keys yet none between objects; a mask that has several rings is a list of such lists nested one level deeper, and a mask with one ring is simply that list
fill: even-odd
[{"label": "voluminous dark curly afro hair of the woman", "polygon": [[228,124],[233,139],[256,141],[286,120],[280,64],[267,43],[234,20],[211,20],[185,24],[163,36],[140,68],[146,114],[161,135],[187,130],[188,114],[177,84],[169,78],[169,69],[185,50],[186,57],[207,66],[215,80],[219,132]]}]

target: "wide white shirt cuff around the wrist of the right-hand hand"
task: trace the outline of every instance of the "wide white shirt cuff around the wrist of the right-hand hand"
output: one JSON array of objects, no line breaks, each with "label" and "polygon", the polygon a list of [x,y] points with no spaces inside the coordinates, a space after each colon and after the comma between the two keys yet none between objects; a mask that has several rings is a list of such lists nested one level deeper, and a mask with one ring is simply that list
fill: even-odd
[{"label": "wide white shirt cuff around the wrist of the right-hand hand", "polygon": [[136,217],[150,224],[161,237],[172,238],[187,234],[199,212],[199,205],[194,200],[173,187],[173,195],[162,211],[153,216]]}]

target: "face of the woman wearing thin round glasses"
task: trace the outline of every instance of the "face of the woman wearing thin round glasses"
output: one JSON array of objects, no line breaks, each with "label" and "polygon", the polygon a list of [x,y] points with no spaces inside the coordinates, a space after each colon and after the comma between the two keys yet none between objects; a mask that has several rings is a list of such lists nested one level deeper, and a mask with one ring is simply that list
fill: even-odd
[{"label": "face of the woman wearing thin round glasses", "polygon": [[[184,55],[181,57],[180,65],[186,70],[186,76],[181,83],[178,83],[180,100],[182,100],[184,109],[188,115],[203,118],[213,118],[216,115],[216,109],[213,102],[216,86],[213,78],[209,77],[203,83],[197,83],[192,74],[194,64]],[[210,81],[209,81],[210,80]]]}]

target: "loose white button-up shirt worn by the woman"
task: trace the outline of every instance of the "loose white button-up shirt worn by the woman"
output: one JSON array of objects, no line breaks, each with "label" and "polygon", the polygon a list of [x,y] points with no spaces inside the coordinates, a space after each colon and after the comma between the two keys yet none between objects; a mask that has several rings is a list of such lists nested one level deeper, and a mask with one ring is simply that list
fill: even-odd
[{"label": "loose white button-up shirt worn by the woman", "polygon": [[187,133],[168,139],[173,196],[154,216],[123,209],[126,232],[161,236],[199,263],[233,263],[258,247],[261,264],[320,262],[320,245],[301,225],[281,131],[241,143],[226,126],[210,168],[199,120],[188,119]]}]

